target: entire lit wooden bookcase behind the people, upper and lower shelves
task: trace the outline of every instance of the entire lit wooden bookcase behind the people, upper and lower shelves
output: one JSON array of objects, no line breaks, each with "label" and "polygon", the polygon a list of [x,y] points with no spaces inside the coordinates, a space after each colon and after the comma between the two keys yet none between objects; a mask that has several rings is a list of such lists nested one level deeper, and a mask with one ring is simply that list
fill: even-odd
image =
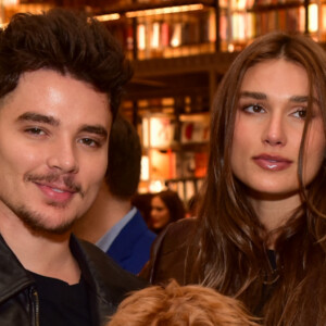
[{"label": "entire lit wooden bookcase behind the people, upper and lower shelves", "polygon": [[[106,25],[135,66],[123,112],[143,141],[141,187],[167,186],[185,201],[201,187],[209,141],[189,135],[204,129],[218,83],[237,53],[273,30],[326,39],[326,1],[321,0],[116,2],[103,3],[95,14],[118,15]],[[149,136],[164,126],[165,142]]]}]

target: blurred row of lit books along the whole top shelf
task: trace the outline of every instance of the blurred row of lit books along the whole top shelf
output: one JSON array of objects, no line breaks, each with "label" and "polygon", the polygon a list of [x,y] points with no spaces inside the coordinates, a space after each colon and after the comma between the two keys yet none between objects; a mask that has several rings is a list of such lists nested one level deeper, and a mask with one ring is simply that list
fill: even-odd
[{"label": "blurred row of lit books along the whole top shelf", "polygon": [[[271,0],[272,1],[272,0]],[[273,7],[264,11],[250,11],[261,1],[235,0],[244,10],[222,10],[220,16],[220,39],[222,42],[247,42],[256,36],[273,30],[300,32],[305,29],[305,8],[301,2],[294,7]],[[273,1],[272,1],[273,2]],[[281,1],[284,3],[285,1]],[[251,5],[251,7],[247,7]],[[323,40],[326,32],[326,4],[309,5],[309,32],[317,33]],[[201,12],[139,17],[137,29],[131,22],[110,24],[111,30],[124,48],[133,52],[137,45],[138,59],[153,57],[191,55],[213,52],[216,41],[216,16],[214,10]],[[180,51],[178,49],[185,49]],[[229,50],[229,49],[225,49]]]}]

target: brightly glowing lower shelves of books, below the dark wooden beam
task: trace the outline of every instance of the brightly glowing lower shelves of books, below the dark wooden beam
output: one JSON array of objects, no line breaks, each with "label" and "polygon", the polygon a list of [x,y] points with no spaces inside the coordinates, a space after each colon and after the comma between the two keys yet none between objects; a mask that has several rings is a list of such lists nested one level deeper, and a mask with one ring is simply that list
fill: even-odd
[{"label": "brightly glowing lower shelves of books, below the dark wooden beam", "polygon": [[142,117],[139,134],[148,167],[141,185],[147,191],[167,187],[188,201],[200,190],[206,173],[209,123],[208,112]]}]

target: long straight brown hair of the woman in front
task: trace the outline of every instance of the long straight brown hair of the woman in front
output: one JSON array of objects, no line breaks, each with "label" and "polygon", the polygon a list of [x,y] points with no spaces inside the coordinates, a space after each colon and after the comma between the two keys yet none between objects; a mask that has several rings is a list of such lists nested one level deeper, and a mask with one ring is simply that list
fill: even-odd
[{"label": "long straight brown hair of the woman in front", "polygon": [[[239,89],[249,67],[271,59],[300,64],[310,82],[308,118],[299,153],[302,206],[281,227],[275,243],[276,272],[267,233],[230,167]],[[195,277],[240,299],[267,326],[325,325],[326,162],[306,191],[302,183],[304,139],[316,92],[326,126],[326,53],[306,36],[273,33],[253,41],[235,60],[212,108],[211,143]],[[324,127],[325,129],[325,127]]]}]

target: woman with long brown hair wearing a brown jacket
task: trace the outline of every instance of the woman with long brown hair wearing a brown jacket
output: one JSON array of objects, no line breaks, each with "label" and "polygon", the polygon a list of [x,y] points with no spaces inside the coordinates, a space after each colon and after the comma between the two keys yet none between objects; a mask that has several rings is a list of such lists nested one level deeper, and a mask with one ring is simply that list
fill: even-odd
[{"label": "woman with long brown hair wearing a brown jacket", "polygon": [[267,326],[325,325],[325,90],[326,54],[305,36],[237,57],[212,109],[199,220],[168,227],[143,275],[215,288]]}]

